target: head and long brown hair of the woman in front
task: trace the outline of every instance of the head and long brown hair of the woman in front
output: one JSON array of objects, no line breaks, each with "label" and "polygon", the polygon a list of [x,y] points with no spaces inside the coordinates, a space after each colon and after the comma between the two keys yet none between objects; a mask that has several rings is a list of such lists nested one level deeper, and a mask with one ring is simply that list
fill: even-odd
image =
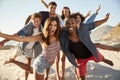
[{"label": "head and long brown hair of the woman in front", "polygon": [[57,17],[49,17],[45,21],[45,25],[43,28],[43,34],[45,38],[49,38],[50,36],[54,36],[56,38],[59,37],[60,34],[60,25]]}]

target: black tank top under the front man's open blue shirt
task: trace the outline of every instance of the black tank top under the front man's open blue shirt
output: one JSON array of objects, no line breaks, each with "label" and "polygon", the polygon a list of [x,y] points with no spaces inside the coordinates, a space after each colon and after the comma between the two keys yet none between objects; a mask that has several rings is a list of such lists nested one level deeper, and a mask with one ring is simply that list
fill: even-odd
[{"label": "black tank top under the front man's open blue shirt", "polygon": [[85,59],[92,56],[92,53],[81,41],[73,42],[69,40],[68,48],[77,59]]}]

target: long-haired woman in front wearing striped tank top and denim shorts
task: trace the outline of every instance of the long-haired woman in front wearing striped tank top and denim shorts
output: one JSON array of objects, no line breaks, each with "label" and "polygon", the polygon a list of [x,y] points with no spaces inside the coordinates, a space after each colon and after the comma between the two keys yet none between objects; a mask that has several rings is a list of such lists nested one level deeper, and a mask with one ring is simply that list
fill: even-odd
[{"label": "long-haired woman in front wearing striped tank top and denim shorts", "polygon": [[[20,42],[39,41],[42,45],[42,54],[35,59],[33,64],[33,72],[35,80],[44,80],[45,69],[52,66],[56,56],[60,51],[59,33],[60,26],[58,18],[50,17],[45,22],[43,34],[41,33],[31,37],[18,37],[0,33],[0,36]],[[11,62],[19,65],[19,62],[15,60],[11,60]],[[26,66],[22,65],[22,68],[26,69]]]}]

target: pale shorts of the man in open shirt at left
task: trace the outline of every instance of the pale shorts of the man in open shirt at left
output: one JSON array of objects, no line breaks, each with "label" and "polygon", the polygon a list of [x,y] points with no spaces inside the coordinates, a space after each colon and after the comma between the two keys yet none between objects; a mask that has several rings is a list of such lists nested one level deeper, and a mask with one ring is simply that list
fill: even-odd
[{"label": "pale shorts of the man in open shirt at left", "polygon": [[18,56],[24,55],[27,58],[33,58],[33,49],[25,49],[23,53],[20,48],[20,43],[16,45],[14,53]]}]

